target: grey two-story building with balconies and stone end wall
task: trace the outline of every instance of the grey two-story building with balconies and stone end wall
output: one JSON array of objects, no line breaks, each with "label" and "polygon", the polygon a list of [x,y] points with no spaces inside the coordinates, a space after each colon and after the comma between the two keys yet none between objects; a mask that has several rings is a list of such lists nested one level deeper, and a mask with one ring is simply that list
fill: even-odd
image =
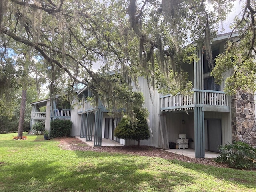
[{"label": "grey two-story building with balconies and stone end wall", "polygon": [[[213,57],[224,52],[229,36],[230,34],[221,34],[214,38]],[[233,36],[236,38],[238,34],[234,33]],[[223,92],[224,82],[217,85],[210,76],[211,71],[203,50],[198,50],[197,56],[199,60],[184,65],[184,70],[188,72],[189,80],[194,86],[192,94],[162,95],[153,89],[149,90],[145,78],[138,78],[140,88],[134,86],[134,90],[144,94],[144,106],[149,111],[148,124],[151,132],[149,140],[142,140],[140,144],[167,149],[168,143],[176,142],[182,134],[186,135],[188,148],[195,150],[196,158],[204,157],[205,150],[219,152],[219,145],[231,143],[233,140],[256,146],[254,95],[239,89],[235,96],[226,95]],[[229,76],[230,72],[224,72],[223,75]],[[79,101],[76,102],[79,104],[69,114],[73,122],[71,136],[94,141],[94,146],[101,146],[102,138],[123,145],[136,145],[136,141],[114,136],[114,129],[122,116],[108,116],[108,111],[101,102],[98,106],[93,106],[86,99],[91,95],[88,87],[78,93]],[[40,105],[42,102],[35,102],[33,105]],[[36,111],[32,108],[32,113],[34,112]],[[48,112],[49,114],[51,118],[54,116],[52,112]]]}]

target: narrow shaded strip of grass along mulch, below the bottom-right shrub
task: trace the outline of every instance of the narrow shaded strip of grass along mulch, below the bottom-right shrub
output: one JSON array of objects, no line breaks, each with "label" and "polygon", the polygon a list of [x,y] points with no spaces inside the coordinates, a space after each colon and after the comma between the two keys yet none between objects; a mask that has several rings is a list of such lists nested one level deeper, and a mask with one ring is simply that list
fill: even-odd
[{"label": "narrow shaded strip of grass along mulch, below the bottom-right shrub", "polygon": [[[187,163],[178,160],[170,160],[172,163],[192,169],[197,172],[203,172],[212,175],[218,179],[226,180],[234,184],[240,184],[247,188],[256,189],[256,171],[243,171],[232,168],[218,168],[214,166],[206,166],[203,164]],[[251,175],[248,177],[248,175]],[[251,178],[251,180],[245,179]]]}]

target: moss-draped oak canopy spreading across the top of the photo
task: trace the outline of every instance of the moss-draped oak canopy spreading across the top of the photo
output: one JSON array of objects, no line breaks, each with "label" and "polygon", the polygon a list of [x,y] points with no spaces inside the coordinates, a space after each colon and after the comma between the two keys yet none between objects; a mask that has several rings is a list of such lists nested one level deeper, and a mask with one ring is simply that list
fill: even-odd
[{"label": "moss-draped oak canopy spreading across the top of the photo", "polygon": [[[114,87],[119,82],[102,74],[118,69],[126,90],[131,90],[132,80],[136,84],[136,78],[144,76],[148,85],[159,91],[188,91],[191,82],[186,79],[182,65],[196,59],[193,54],[196,48],[204,47],[213,67],[211,41],[217,34],[219,22],[232,10],[233,2],[2,0],[1,66],[6,65],[8,48],[26,50],[29,47],[33,57],[43,62],[45,71],[49,72],[51,88],[62,81],[68,84],[66,87],[85,84],[95,96],[108,100],[110,107],[118,102],[127,108],[133,102],[123,102],[124,98],[134,100],[134,95],[123,91],[124,95],[116,97]],[[252,54],[255,53],[255,14],[255,1],[245,0],[243,14],[236,18],[234,25],[234,31],[240,31],[239,46],[243,49],[231,42],[213,72],[220,79],[222,70],[230,69],[229,66],[235,69],[234,76],[228,79],[228,89],[242,86],[238,82],[246,81],[254,84],[247,88],[256,90],[255,54]],[[238,54],[241,57],[236,59],[234,55]],[[243,73],[243,81],[238,78],[239,72]],[[70,80],[61,78],[63,73],[68,74]],[[163,87],[164,90],[160,89]]]}]

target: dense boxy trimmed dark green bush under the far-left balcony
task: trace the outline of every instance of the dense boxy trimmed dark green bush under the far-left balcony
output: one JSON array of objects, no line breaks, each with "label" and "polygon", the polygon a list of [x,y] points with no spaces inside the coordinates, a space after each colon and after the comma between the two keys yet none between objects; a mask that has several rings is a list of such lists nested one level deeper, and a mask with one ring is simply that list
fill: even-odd
[{"label": "dense boxy trimmed dark green bush under the far-left balcony", "polygon": [[68,137],[71,133],[72,122],[70,120],[56,119],[50,124],[50,138]]}]

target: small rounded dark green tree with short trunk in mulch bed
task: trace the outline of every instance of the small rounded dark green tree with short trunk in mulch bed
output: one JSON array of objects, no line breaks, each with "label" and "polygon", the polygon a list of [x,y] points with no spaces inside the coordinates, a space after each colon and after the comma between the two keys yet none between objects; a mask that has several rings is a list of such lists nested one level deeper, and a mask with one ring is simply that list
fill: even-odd
[{"label": "small rounded dark green tree with short trunk in mulch bed", "polygon": [[136,140],[138,146],[140,146],[140,140],[148,140],[150,137],[147,123],[148,110],[145,108],[135,109],[134,113],[136,114],[136,122],[132,124],[130,118],[124,116],[116,127],[114,134],[121,139]]}]

